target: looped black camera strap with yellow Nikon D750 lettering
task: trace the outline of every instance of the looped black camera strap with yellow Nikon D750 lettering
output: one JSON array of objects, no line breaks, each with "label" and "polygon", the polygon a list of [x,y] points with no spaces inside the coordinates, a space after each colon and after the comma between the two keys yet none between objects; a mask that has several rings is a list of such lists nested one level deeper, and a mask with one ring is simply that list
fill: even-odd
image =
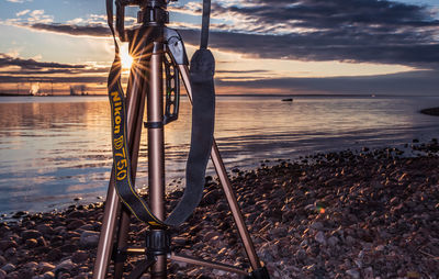
[{"label": "looped black camera strap with yellow Nikon D750 lettering", "polygon": [[106,0],[106,15],[115,47],[115,57],[108,79],[108,92],[111,104],[113,170],[116,192],[122,202],[138,220],[156,227],[178,226],[192,214],[201,201],[205,182],[205,168],[213,144],[215,60],[212,53],[206,49],[210,0],[203,2],[201,46],[193,55],[190,67],[193,107],[191,147],[187,164],[187,188],[180,202],[166,221],[160,221],[153,214],[146,201],[136,192],[132,181],[125,94],[121,83],[122,66],[113,26],[113,0]]}]

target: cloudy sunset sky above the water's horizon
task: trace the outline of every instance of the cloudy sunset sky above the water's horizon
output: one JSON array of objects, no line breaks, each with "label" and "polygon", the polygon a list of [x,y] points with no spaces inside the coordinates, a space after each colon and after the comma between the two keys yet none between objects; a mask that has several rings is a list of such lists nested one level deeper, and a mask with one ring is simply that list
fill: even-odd
[{"label": "cloudy sunset sky above the water's horizon", "polygon": [[[168,7],[190,56],[201,7]],[[217,93],[439,94],[439,0],[212,0],[211,23]],[[113,58],[104,0],[0,0],[0,92],[104,94]]]}]

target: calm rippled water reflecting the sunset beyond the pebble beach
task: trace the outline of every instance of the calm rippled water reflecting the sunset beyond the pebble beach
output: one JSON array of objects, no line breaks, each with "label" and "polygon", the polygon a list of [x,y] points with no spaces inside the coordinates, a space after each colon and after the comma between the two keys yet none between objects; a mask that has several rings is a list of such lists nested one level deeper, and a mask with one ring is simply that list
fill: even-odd
[{"label": "calm rippled water reflecting the sunset beyond the pebble beach", "polygon": [[[262,159],[316,152],[402,146],[439,137],[439,118],[423,108],[439,98],[218,98],[216,132],[228,169]],[[166,127],[169,189],[183,177],[190,111]],[[105,196],[111,169],[110,114],[105,97],[0,98],[0,213],[50,211]],[[137,186],[146,187],[146,131]],[[212,167],[210,167],[212,172]]]}]

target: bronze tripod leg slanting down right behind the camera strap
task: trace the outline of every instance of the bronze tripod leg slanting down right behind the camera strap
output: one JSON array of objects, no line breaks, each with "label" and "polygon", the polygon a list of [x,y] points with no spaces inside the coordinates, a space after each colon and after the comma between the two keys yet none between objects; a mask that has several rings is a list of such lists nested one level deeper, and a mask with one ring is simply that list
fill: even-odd
[{"label": "bronze tripod leg slanting down right behind the camera strap", "polygon": [[[192,88],[191,88],[191,82],[190,82],[188,65],[179,65],[179,69],[181,72],[181,77],[182,77],[184,87],[188,92],[188,97],[192,101]],[[216,174],[218,175],[218,178],[219,178],[221,185],[223,187],[224,193],[226,196],[228,205],[230,207],[230,211],[234,216],[235,224],[238,228],[238,233],[243,241],[245,250],[247,253],[247,257],[250,260],[251,268],[254,270],[258,270],[261,268],[261,263],[259,261],[259,257],[256,254],[254,243],[250,238],[250,234],[248,233],[246,223],[244,222],[243,213],[240,212],[238,201],[236,200],[236,196],[233,191],[230,181],[227,177],[227,171],[226,171],[224,163],[221,158],[219,150],[218,150],[218,147],[216,146],[215,140],[212,145],[211,158],[212,158],[213,165],[215,166]]]}]

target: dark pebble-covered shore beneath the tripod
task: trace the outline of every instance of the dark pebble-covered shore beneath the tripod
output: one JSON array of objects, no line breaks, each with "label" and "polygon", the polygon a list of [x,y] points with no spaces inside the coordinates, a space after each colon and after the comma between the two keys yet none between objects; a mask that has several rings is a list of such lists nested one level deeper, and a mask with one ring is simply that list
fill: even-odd
[{"label": "dark pebble-covered shore beneath the tripod", "polygon": [[[426,156],[364,148],[233,169],[232,185],[271,278],[438,277],[438,143],[414,149]],[[168,193],[168,205],[180,196]],[[102,203],[71,205],[1,223],[0,274],[89,278],[102,212]],[[143,242],[140,223],[132,220],[130,231]],[[201,205],[179,232],[176,252],[248,267],[216,180],[207,180]],[[234,278],[185,265],[169,268],[169,278]]]}]

